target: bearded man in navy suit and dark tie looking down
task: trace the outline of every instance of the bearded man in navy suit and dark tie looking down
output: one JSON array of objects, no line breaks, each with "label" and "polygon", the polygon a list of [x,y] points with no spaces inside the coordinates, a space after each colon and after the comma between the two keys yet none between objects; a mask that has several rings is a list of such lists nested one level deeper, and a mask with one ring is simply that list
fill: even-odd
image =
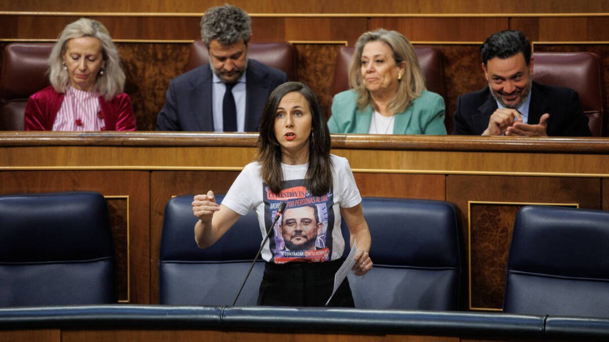
[{"label": "bearded man in navy suit and dark tie looking down", "polygon": [[284,72],[248,60],[250,17],[232,5],[212,7],[201,19],[209,64],[169,83],[157,117],[161,131],[258,131],[270,92]]}]

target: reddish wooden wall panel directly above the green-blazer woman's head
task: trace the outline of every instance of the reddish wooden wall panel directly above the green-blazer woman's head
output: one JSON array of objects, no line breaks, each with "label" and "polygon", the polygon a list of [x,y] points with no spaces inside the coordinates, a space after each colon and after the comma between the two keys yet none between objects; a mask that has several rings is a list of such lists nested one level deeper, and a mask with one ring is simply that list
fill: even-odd
[{"label": "reddish wooden wall panel directly above the green-blazer woman's head", "polygon": [[370,29],[396,30],[410,41],[476,41],[507,28],[507,18],[371,18]]}]

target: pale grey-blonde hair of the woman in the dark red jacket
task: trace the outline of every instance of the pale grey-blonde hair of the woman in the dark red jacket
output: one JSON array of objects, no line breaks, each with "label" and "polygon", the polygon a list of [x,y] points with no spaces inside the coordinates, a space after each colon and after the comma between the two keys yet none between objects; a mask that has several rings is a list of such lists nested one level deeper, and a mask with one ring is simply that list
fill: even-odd
[{"label": "pale grey-blonde hair of the woman in the dark red jacket", "polygon": [[102,23],[96,20],[80,18],[63,29],[48,60],[51,85],[57,92],[66,91],[70,77],[68,71],[63,67],[63,55],[68,48],[68,41],[80,37],[97,38],[102,43],[102,58],[106,61],[105,71],[103,75],[97,74],[94,91],[109,101],[122,92],[125,86],[125,73],[122,71],[119,53],[110,38],[110,33]]}]

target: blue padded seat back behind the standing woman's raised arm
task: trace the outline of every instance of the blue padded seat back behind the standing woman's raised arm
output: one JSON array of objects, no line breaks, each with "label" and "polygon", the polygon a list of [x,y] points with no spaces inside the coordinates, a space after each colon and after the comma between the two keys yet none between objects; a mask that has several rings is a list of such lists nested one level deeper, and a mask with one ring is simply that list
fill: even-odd
[{"label": "blue padded seat back behind the standing woman's raised arm", "polygon": [[[250,212],[213,246],[201,250],[194,240],[197,218],[191,195],[165,206],[159,257],[159,301],[171,305],[230,305],[262,242],[258,219]],[[216,195],[222,202],[224,196]],[[264,262],[259,259],[237,305],[256,305]]]}]

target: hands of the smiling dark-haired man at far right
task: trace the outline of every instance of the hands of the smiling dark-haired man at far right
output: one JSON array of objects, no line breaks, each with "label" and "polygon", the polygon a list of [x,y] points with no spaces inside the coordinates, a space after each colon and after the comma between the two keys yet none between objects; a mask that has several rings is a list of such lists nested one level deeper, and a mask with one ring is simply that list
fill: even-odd
[{"label": "hands of the smiling dark-haired man at far right", "polygon": [[543,114],[539,124],[523,123],[519,111],[510,108],[498,108],[488,120],[488,127],[482,135],[513,135],[513,136],[547,136],[547,119],[550,114]]}]

